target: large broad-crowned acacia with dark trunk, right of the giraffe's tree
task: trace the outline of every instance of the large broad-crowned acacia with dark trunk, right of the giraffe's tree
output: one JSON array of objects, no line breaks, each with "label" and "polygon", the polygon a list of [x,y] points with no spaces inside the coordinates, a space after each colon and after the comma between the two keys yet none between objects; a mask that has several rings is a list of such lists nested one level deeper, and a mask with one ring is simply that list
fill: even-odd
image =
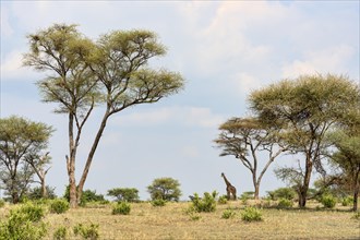
[{"label": "large broad-crowned acacia with dark trunk, right of the giraffe's tree", "polygon": [[344,121],[359,100],[355,82],[333,74],[301,75],[251,93],[249,101],[257,118],[280,129],[289,149],[303,155],[304,170],[298,172],[299,206],[305,206],[313,167],[325,172],[322,152],[326,132]]}]

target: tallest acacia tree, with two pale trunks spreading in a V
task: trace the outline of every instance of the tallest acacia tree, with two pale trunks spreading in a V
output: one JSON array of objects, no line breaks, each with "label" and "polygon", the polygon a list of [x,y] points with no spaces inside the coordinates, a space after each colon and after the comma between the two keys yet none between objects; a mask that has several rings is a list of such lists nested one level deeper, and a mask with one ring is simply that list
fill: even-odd
[{"label": "tallest acacia tree, with two pale trunks spreading in a V", "polygon": [[[93,41],[81,35],[75,25],[56,24],[28,39],[31,49],[24,64],[51,73],[38,82],[44,100],[58,103],[56,112],[69,117],[67,168],[70,205],[75,207],[110,116],[178,93],[183,79],[179,73],[148,68],[148,60],[166,53],[149,31],[115,31]],[[104,106],[105,111],[76,185],[77,146],[83,127],[97,105]]]}]

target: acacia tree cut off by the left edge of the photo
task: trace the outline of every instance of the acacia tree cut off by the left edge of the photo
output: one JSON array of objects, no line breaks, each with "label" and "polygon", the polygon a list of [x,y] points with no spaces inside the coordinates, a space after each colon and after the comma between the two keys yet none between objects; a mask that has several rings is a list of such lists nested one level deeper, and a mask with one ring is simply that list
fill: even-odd
[{"label": "acacia tree cut off by the left edge of the photo", "polygon": [[39,165],[34,159],[47,148],[52,128],[20,117],[0,119],[0,180],[13,203],[19,203]]}]

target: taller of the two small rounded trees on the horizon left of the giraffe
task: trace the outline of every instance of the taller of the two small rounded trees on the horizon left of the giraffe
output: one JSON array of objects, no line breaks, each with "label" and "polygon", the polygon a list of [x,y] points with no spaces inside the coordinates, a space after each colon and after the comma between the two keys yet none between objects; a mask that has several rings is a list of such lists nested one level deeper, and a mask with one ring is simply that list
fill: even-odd
[{"label": "taller of the two small rounded trees on the horizon left of the giraffe", "polygon": [[152,200],[179,201],[181,191],[178,180],[172,178],[157,178],[147,187]]}]

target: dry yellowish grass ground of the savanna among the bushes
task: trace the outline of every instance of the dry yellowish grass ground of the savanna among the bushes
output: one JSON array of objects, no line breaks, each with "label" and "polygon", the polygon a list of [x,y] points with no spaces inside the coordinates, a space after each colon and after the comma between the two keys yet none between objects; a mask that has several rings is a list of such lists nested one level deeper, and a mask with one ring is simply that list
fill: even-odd
[{"label": "dry yellowish grass ground of the savanna among the bushes", "polygon": [[[248,203],[252,205],[254,203]],[[167,203],[155,207],[151,203],[132,203],[130,215],[112,215],[112,205],[89,204],[69,209],[64,214],[46,214],[48,237],[64,226],[72,229],[76,224],[98,224],[99,239],[360,239],[360,219],[353,218],[349,207],[339,204],[334,209],[320,208],[310,203],[305,209],[262,208],[263,220],[245,223],[241,201],[217,205],[213,213],[189,214],[190,202]],[[0,218],[13,207],[0,208]],[[223,213],[231,208],[236,215],[224,219]]]}]

